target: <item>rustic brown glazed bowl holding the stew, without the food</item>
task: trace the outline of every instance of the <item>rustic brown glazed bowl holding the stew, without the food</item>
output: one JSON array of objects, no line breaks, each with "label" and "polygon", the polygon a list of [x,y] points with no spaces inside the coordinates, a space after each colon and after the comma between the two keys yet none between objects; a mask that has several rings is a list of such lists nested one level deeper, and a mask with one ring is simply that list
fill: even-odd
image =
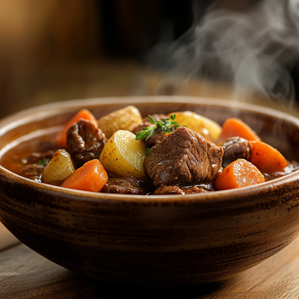
[{"label": "rustic brown glazed bowl holding the stew, without the food", "polygon": [[[36,150],[39,136],[54,136],[83,107],[99,118],[128,104],[143,116],[191,110],[220,124],[240,117],[284,154],[299,149],[299,119],[271,109],[198,97],[128,97],[54,103],[5,118],[0,154],[17,144]],[[0,181],[0,220],[21,242],[67,269],[109,282],[221,280],[270,257],[299,232],[298,171],[251,187],[185,196],[70,190],[2,166]]]}]

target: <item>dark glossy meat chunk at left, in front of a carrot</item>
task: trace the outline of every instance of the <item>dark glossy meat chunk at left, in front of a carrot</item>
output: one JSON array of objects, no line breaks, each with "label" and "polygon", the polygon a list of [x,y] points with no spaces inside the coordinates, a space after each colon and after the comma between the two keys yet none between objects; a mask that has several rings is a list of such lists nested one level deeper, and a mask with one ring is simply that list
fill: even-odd
[{"label": "dark glossy meat chunk at left, in front of a carrot", "polygon": [[89,120],[80,118],[67,132],[67,147],[75,168],[98,159],[107,141],[105,134]]}]

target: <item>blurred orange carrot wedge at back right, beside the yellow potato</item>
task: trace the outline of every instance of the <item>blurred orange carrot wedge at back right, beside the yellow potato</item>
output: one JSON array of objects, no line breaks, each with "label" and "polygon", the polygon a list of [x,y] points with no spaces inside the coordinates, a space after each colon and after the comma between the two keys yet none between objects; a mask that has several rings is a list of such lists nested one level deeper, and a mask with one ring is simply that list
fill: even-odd
[{"label": "blurred orange carrot wedge at back right, beside the yellow potato", "polygon": [[225,141],[229,137],[242,137],[247,140],[260,141],[260,137],[257,133],[251,129],[244,121],[239,118],[228,118],[225,120],[222,126],[222,133],[220,135],[220,141]]}]

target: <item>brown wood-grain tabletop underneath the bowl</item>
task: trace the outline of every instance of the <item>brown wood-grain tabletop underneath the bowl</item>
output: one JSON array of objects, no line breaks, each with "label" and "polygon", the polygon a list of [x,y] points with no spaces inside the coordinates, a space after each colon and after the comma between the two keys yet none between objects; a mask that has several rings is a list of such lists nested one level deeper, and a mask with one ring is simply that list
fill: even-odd
[{"label": "brown wood-grain tabletop underneath the bowl", "polygon": [[0,246],[0,298],[4,299],[299,299],[299,238],[224,283],[179,289],[120,289],[106,283],[101,288],[92,286],[20,244],[1,223]]}]

